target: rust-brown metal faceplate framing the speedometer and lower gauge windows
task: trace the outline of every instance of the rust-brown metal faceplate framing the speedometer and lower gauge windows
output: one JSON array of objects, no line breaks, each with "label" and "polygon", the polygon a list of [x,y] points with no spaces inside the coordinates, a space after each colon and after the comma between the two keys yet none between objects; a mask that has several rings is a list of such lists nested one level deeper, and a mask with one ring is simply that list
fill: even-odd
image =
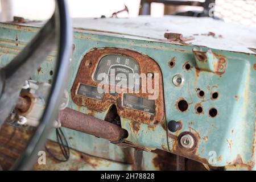
[{"label": "rust-brown metal faceplate framing the speedometer and lower gauge windows", "polygon": [[[122,98],[123,94],[117,94],[117,96],[113,96],[112,94],[105,93],[102,101],[94,100],[89,97],[82,97],[77,94],[77,89],[79,84],[86,84],[90,86],[98,86],[98,82],[93,80],[93,74],[96,70],[98,62],[101,57],[106,55],[124,55],[133,58],[139,64],[139,69],[141,73],[158,73],[159,75],[159,97],[155,100],[155,113],[150,114],[144,111],[139,111],[135,109],[129,109],[127,107],[123,107]],[[154,85],[154,79],[153,83]],[[109,85],[109,90],[110,90]],[[126,88],[125,88],[126,89]],[[133,93],[134,96],[148,98],[150,94],[142,93],[142,88],[140,88],[139,93]],[[118,48],[99,48],[92,49],[86,53],[84,58],[81,61],[79,71],[77,72],[77,76],[75,82],[71,89],[71,97],[75,104],[79,106],[85,106],[89,109],[104,112],[111,105],[117,106],[118,115],[123,118],[131,119],[132,121],[138,121],[142,123],[146,123],[149,125],[156,125],[161,123],[164,119],[164,98],[163,98],[163,77],[162,72],[160,70],[159,65],[150,57],[146,55],[142,55],[141,53],[130,51],[126,49],[118,49]]]}]

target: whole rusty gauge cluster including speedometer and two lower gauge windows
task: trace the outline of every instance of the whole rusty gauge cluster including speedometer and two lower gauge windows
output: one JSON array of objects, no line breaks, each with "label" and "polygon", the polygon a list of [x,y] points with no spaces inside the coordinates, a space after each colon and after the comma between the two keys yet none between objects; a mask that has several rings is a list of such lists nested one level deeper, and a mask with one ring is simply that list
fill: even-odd
[{"label": "whole rusty gauge cluster including speedometer and two lower gauge windows", "polygon": [[133,121],[155,125],[164,119],[160,68],[135,51],[100,48],[86,53],[71,94],[75,104],[91,110],[103,112],[115,105],[120,117]]}]

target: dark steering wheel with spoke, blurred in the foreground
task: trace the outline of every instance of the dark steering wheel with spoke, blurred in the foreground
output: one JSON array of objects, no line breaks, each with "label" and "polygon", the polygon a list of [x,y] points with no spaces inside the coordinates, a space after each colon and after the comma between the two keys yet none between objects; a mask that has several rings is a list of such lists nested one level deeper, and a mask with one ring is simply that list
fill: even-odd
[{"label": "dark steering wheel with spoke, blurred in the foreground", "polygon": [[39,150],[42,150],[53,121],[57,115],[60,94],[64,90],[69,58],[72,51],[72,26],[65,0],[56,0],[55,12],[30,43],[5,67],[0,69],[0,127],[15,107],[22,86],[46,56],[57,46],[56,71],[48,101],[23,153],[11,167],[13,170],[28,170],[34,165]]}]

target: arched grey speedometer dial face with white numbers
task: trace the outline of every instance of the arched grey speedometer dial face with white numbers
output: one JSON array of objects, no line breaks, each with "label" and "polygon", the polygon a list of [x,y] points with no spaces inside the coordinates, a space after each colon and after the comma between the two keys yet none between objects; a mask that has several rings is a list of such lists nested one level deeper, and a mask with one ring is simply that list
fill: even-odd
[{"label": "arched grey speedometer dial face with white numbers", "polygon": [[100,59],[93,79],[101,82],[106,76],[109,84],[134,89],[140,86],[138,75],[139,65],[133,58],[122,55],[106,55]]}]

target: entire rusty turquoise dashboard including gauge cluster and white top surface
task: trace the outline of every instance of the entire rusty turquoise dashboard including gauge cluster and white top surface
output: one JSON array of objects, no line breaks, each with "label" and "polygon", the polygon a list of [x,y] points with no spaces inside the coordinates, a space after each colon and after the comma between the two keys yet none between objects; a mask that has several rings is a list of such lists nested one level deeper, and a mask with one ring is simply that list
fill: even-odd
[{"label": "entire rusty turquoise dashboard including gauge cluster and white top surface", "polygon": [[[128,133],[119,146],[163,150],[212,167],[255,169],[256,56],[249,49],[255,49],[255,28],[225,28],[224,22],[196,18],[181,18],[177,28],[175,17],[162,20],[163,26],[156,27],[159,19],[150,17],[76,19],[67,80],[69,109],[105,121],[116,109],[118,125]],[[207,24],[217,27],[211,30],[216,36],[205,36],[209,30],[197,28]],[[0,28],[10,31],[0,37],[2,63],[38,31],[27,24]],[[175,28],[195,40],[164,39],[164,32]],[[251,40],[248,45],[237,32],[245,32],[241,36]],[[52,51],[33,80],[51,82],[55,56]],[[121,76],[112,79],[114,73]],[[129,75],[131,82],[125,82]],[[64,131],[76,150],[125,162],[123,148]]]}]

